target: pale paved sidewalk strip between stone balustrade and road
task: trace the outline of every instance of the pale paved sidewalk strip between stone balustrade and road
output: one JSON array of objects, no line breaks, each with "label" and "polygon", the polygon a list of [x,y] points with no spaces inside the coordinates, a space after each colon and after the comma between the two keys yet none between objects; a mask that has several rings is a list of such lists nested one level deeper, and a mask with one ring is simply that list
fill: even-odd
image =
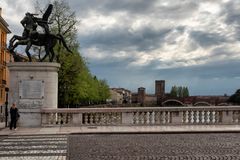
[{"label": "pale paved sidewalk strip between stone balustrade and road", "polygon": [[38,134],[70,134],[70,133],[193,133],[193,132],[240,132],[240,125],[192,125],[192,126],[80,126],[80,127],[38,127],[17,130],[3,128],[1,135],[38,135]]}]

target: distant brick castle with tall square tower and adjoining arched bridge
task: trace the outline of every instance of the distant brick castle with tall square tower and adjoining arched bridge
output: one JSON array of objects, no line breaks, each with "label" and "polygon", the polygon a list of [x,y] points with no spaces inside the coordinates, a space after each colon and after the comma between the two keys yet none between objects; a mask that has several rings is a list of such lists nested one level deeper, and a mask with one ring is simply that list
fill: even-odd
[{"label": "distant brick castle with tall square tower and adjoining arched bridge", "polygon": [[132,103],[144,106],[221,106],[228,105],[229,97],[224,96],[189,96],[171,97],[165,93],[165,80],[155,81],[155,94],[147,94],[144,87],[132,93]]}]

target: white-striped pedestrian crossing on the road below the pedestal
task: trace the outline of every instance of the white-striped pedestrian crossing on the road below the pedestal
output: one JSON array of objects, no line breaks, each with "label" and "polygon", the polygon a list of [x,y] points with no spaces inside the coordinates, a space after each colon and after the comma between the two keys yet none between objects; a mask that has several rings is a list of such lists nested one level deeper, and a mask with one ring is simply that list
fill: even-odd
[{"label": "white-striped pedestrian crossing on the road below the pedestal", "polygon": [[66,135],[0,136],[0,160],[65,160]]}]

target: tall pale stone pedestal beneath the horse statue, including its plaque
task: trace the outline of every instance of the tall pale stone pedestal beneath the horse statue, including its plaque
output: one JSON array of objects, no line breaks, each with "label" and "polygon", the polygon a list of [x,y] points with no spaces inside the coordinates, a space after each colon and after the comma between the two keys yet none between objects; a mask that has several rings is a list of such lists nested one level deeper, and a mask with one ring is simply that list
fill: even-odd
[{"label": "tall pale stone pedestal beneath the horse statue, including its plaque", "polygon": [[9,63],[9,108],[16,103],[21,127],[41,126],[41,109],[57,108],[58,69],[60,64],[48,62]]}]

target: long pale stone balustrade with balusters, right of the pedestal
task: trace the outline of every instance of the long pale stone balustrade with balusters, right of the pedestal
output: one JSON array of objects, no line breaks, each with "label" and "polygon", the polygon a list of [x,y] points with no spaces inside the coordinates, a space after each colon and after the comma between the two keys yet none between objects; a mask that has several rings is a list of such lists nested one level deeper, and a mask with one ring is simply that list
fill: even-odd
[{"label": "long pale stone balustrade with balusters, right of the pedestal", "polygon": [[240,106],[41,110],[42,126],[240,124]]}]

